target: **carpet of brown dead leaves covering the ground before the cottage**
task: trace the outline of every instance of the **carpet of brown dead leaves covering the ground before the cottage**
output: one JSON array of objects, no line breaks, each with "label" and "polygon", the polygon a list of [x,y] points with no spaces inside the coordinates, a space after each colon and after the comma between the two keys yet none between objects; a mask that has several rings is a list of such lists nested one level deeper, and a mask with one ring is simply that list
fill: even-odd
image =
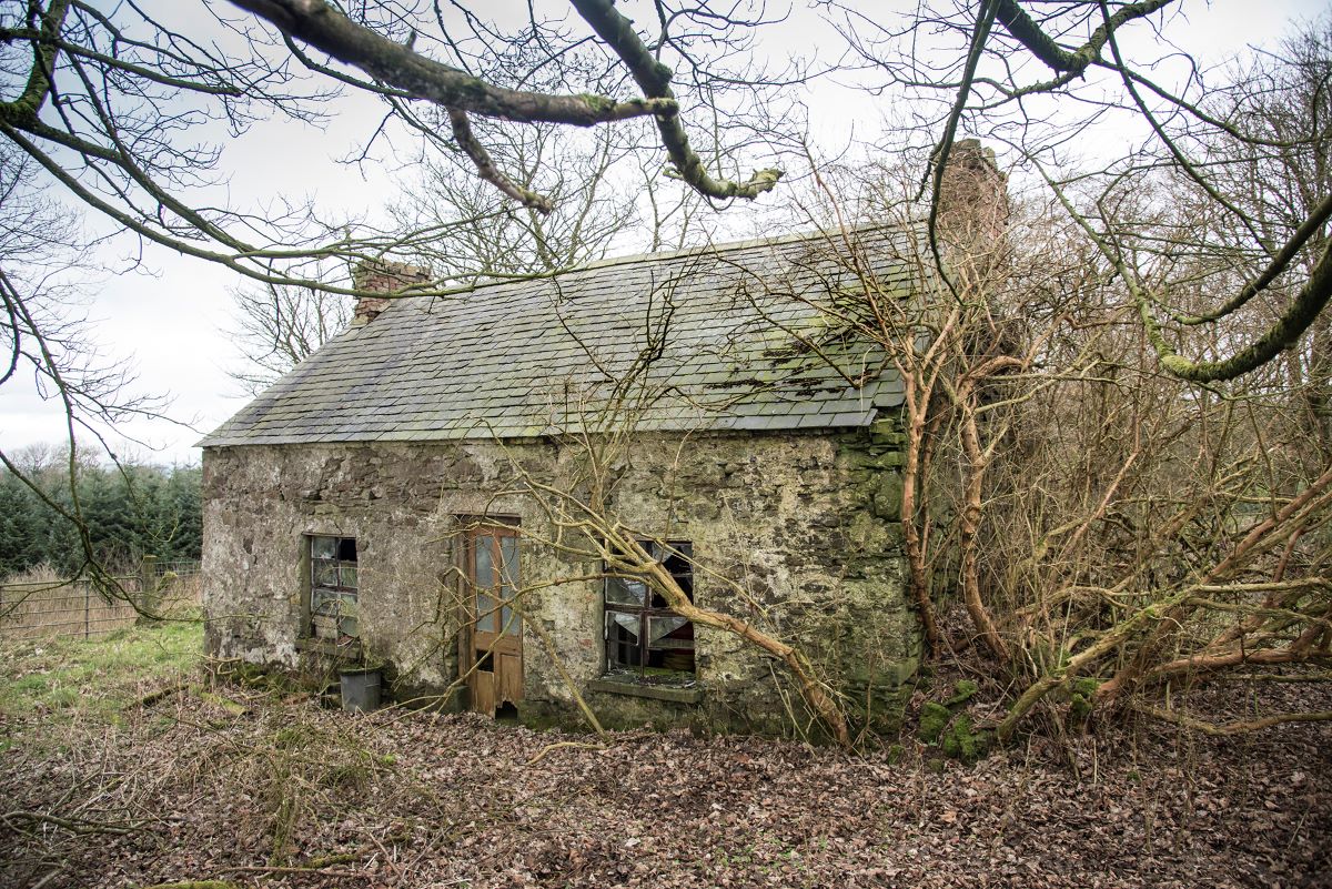
[{"label": "carpet of brown dead leaves covering the ground before the cottage", "polygon": [[[31,725],[3,727],[11,739]],[[975,768],[746,737],[605,749],[476,716],[222,707],[0,753],[0,884],[128,886],[1313,886],[1332,882],[1332,732],[1124,729]]]}]

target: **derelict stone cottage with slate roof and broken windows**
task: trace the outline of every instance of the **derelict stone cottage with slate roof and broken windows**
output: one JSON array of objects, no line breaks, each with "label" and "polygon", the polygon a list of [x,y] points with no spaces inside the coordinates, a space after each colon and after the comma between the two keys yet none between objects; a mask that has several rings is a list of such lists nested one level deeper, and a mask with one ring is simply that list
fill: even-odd
[{"label": "derelict stone cottage with slate roof and broken windows", "polygon": [[902,386],[847,319],[866,286],[920,286],[916,234],[362,299],[202,441],[209,652],[380,663],[400,701],[529,724],[577,724],[581,699],[607,727],[807,727],[778,660],[607,570],[591,526],[561,518],[593,503],[695,604],[795,645],[852,717],[891,724],[919,656]]}]

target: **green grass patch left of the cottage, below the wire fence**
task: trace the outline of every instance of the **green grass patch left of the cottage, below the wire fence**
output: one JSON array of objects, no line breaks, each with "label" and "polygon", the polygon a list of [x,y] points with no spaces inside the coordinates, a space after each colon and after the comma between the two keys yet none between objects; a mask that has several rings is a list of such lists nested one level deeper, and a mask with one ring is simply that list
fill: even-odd
[{"label": "green grass patch left of the cottage, below the wire fence", "polygon": [[143,695],[193,676],[198,623],[119,629],[101,639],[0,641],[0,715],[116,721]]}]

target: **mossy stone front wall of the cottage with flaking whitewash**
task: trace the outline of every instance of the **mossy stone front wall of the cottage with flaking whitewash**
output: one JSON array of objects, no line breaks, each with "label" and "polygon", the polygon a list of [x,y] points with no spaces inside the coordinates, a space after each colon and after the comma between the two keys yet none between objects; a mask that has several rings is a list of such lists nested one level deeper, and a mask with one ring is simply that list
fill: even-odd
[{"label": "mossy stone front wall of the cottage with flaking whitewash", "polygon": [[[891,729],[919,653],[896,522],[899,442],[884,422],[836,435],[641,437],[617,467],[613,511],[659,539],[690,540],[699,606],[797,645],[847,695],[855,720]],[[354,536],[369,656],[390,665],[400,700],[448,689],[457,676],[460,516],[509,516],[525,532],[523,610],[539,622],[523,633],[525,721],[581,721],[558,657],[606,725],[782,733],[807,723],[781,663],[702,627],[694,687],[643,697],[597,681],[601,582],[562,580],[599,566],[541,544],[550,534],[545,514],[513,492],[515,466],[559,483],[583,464],[577,443],[545,439],[206,448],[209,651],[318,665],[321,655],[301,639],[304,535]],[[743,595],[709,572],[737,582]]]}]

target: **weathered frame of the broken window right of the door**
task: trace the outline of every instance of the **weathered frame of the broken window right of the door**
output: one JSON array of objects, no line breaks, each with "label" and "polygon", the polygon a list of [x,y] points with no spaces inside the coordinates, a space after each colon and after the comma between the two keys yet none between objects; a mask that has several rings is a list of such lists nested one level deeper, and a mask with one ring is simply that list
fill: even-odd
[{"label": "weathered frame of the broken window right of the door", "polygon": [[[675,568],[669,568],[673,578],[681,583],[681,588],[690,602],[694,600],[694,544],[690,540],[638,540],[649,555],[651,555],[659,564],[666,566],[669,562],[678,559],[679,563]],[[611,599],[613,584],[641,584],[643,588],[643,595],[639,603],[627,602],[614,602]],[[653,592],[651,587],[647,586],[645,580],[635,575],[629,574],[615,574],[611,571],[610,566],[602,563],[602,596],[601,596],[601,611],[602,611],[602,673],[610,677],[625,677],[633,676],[639,683],[645,684],[681,684],[686,681],[695,681],[698,677],[698,647],[694,636],[694,622],[683,618],[674,608],[666,603],[655,604],[654,599],[661,596]],[[638,620],[638,632],[633,633],[638,637],[637,644],[626,644],[625,641],[613,637],[613,625],[621,628],[622,632],[631,632],[627,627],[614,620],[614,615],[626,615]],[[677,619],[681,623],[678,627],[662,633],[658,639],[651,637],[651,622],[661,619]],[[677,633],[689,629],[687,636],[677,636]],[[666,641],[669,640],[669,641]],[[666,668],[651,665],[653,652],[681,652],[686,651],[690,655],[690,668]],[[627,659],[621,659],[621,652],[633,652],[627,655]],[[666,655],[663,653],[662,657]],[[634,663],[637,660],[637,663]],[[650,672],[661,671],[661,672]]]}]

